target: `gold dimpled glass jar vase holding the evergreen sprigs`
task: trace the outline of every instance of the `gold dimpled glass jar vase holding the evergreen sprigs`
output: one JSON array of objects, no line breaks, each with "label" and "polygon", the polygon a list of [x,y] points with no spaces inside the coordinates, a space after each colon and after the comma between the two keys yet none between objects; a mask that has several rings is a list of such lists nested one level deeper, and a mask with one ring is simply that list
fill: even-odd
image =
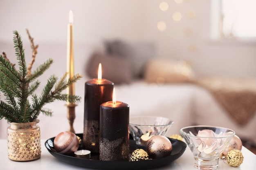
[{"label": "gold dimpled glass jar vase holding the evergreen sprigs", "polygon": [[13,161],[34,161],[41,156],[39,120],[13,123],[7,128],[8,158]]}]

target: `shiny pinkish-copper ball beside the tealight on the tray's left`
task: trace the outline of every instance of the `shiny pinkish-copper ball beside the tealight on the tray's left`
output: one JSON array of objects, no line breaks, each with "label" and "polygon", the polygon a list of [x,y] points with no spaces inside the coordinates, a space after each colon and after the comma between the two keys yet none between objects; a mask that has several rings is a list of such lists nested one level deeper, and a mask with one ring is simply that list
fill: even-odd
[{"label": "shiny pinkish-copper ball beside the tealight on the tray's left", "polygon": [[79,147],[79,140],[73,132],[60,132],[54,139],[54,149],[63,155],[73,154]]}]

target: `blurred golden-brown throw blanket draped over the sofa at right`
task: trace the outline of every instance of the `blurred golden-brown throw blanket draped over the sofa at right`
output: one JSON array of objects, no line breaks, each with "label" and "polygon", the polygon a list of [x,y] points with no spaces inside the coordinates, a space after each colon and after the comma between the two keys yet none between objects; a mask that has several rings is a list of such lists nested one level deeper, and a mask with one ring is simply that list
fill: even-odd
[{"label": "blurred golden-brown throw blanket draped over the sofa at right", "polygon": [[195,80],[241,126],[256,114],[256,79],[202,77]]}]

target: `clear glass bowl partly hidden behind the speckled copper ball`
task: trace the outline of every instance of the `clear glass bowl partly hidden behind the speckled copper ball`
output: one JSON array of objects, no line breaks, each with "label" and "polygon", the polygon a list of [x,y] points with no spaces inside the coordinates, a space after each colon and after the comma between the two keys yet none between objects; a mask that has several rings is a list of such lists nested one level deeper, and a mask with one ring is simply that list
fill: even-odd
[{"label": "clear glass bowl partly hidden behind the speckled copper ball", "polygon": [[146,146],[153,135],[165,135],[173,121],[159,116],[132,116],[129,130],[137,145]]}]

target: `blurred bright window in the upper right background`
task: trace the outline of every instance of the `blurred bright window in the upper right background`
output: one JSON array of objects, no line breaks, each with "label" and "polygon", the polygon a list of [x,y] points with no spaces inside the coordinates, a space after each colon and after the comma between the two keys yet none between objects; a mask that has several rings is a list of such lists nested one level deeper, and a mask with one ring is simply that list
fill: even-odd
[{"label": "blurred bright window in the upper right background", "polygon": [[256,0],[212,0],[212,7],[213,37],[256,38]]}]

